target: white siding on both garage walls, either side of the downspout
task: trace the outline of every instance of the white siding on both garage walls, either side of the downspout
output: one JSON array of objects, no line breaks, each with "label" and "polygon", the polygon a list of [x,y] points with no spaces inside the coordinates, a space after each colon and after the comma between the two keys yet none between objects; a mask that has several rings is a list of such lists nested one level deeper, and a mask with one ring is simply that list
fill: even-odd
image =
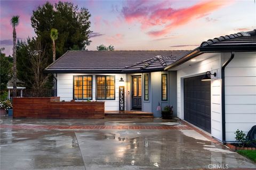
[{"label": "white siding on both garage walls, either side of the downspout", "polygon": [[[211,134],[222,140],[221,124],[221,66],[230,58],[230,53],[205,53],[196,57],[195,64],[188,61],[177,67],[178,116],[183,113],[183,78],[217,72],[211,81]],[[190,65],[189,65],[190,64]],[[225,70],[226,141],[235,141],[234,132],[247,133],[256,124],[256,54],[235,53]]]}]

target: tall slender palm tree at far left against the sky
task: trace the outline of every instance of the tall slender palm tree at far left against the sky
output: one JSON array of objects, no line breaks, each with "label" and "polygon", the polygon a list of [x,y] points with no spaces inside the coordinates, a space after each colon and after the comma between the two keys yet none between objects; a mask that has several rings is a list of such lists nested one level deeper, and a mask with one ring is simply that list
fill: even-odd
[{"label": "tall slender palm tree at far left against the sky", "polygon": [[11,19],[11,25],[13,28],[13,97],[16,97],[16,89],[17,89],[17,57],[16,57],[16,49],[17,49],[17,44],[16,44],[16,30],[15,27],[18,26],[19,24],[19,18],[20,16],[12,16]]}]

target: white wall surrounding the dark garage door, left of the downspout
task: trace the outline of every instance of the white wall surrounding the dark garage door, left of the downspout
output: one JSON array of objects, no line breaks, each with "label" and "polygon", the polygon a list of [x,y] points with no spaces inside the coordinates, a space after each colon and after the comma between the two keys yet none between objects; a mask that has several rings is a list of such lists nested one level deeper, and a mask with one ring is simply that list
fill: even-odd
[{"label": "white wall surrounding the dark garage door, left of the downspout", "polygon": [[[178,117],[184,119],[183,79],[204,75],[206,71],[216,72],[217,77],[212,77],[211,83],[211,135],[222,140],[221,124],[221,56],[220,53],[204,53],[196,60],[187,62],[177,70],[177,106]],[[189,64],[191,64],[189,66]]]}]

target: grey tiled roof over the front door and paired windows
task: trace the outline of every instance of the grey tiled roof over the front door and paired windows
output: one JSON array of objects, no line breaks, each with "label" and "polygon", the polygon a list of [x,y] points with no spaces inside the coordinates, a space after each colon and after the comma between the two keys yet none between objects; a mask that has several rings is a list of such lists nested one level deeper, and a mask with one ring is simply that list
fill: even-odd
[{"label": "grey tiled roof over the front door and paired windows", "polygon": [[48,73],[132,73],[162,71],[188,50],[68,51],[47,66]]}]

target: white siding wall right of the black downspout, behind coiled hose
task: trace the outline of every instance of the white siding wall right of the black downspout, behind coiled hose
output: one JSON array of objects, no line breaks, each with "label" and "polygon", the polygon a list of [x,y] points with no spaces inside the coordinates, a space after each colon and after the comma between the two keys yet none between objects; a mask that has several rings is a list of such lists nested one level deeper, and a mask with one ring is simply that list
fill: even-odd
[{"label": "white siding wall right of the black downspout, behind coiled hose", "polygon": [[[230,53],[222,53],[222,63]],[[256,53],[235,53],[225,69],[226,141],[256,125]]]}]

